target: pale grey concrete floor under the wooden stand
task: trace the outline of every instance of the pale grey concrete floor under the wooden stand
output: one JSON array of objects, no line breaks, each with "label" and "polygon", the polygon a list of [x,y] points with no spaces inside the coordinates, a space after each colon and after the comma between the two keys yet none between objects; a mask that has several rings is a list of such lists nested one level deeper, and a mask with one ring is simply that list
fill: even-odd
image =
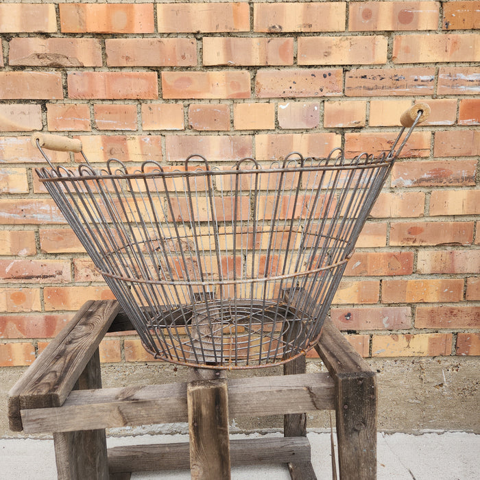
[{"label": "pale grey concrete floor under the wooden stand", "polygon": [[[279,435],[279,434],[269,434]],[[232,435],[232,438],[259,437]],[[309,433],[313,468],[319,479],[331,479],[329,433]],[[108,446],[185,442],[185,435],[139,435],[109,437]],[[480,479],[480,435],[463,432],[378,434],[379,480],[478,480]],[[53,441],[0,439],[0,479],[56,479]],[[232,468],[232,480],[289,480],[285,466]],[[188,471],[141,472],[132,480],[189,480]]]}]

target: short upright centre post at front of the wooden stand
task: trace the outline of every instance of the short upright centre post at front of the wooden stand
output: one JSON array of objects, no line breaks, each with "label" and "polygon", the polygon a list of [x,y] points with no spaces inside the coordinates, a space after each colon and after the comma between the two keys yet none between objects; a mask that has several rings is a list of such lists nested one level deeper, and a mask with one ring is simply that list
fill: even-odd
[{"label": "short upright centre post at front of the wooden stand", "polygon": [[187,408],[192,480],[229,480],[230,439],[226,379],[189,382]]}]

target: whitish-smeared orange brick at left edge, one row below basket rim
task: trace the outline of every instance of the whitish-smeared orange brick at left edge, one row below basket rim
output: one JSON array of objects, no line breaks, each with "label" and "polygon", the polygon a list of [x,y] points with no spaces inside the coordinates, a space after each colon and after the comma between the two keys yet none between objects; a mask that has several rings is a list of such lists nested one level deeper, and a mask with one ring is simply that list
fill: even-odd
[{"label": "whitish-smeared orange brick at left edge, one row below basket rim", "polygon": [[0,224],[39,225],[64,224],[64,216],[50,199],[32,200],[6,198],[0,200]]}]

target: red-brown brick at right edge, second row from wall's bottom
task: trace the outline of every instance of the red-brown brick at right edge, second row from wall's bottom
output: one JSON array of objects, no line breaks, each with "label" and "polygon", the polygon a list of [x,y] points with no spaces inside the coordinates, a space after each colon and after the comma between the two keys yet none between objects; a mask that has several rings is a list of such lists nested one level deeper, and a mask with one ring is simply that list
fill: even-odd
[{"label": "red-brown brick at right edge, second row from wall's bottom", "polygon": [[480,307],[417,307],[415,328],[480,328]]}]

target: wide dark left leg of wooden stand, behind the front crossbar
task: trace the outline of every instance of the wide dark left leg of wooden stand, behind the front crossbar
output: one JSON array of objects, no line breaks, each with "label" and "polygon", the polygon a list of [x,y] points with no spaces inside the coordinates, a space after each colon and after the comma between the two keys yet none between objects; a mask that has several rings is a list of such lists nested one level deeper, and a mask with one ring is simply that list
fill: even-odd
[{"label": "wide dark left leg of wooden stand, behind the front crossbar", "polygon": [[[98,348],[75,387],[101,388]],[[108,480],[104,429],[53,433],[53,443],[59,480]]]}]

